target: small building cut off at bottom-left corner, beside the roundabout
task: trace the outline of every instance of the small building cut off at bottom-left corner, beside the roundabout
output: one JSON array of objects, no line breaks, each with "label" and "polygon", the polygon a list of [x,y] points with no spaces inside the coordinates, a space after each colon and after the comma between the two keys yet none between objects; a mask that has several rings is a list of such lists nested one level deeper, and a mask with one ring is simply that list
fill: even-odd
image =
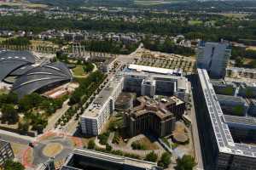
[{"label": "small building cut off at bottom-left corner, beside the roundabout", "polygon": [[15,154],[10,143],[0,140],[0,167],[3,167],[5,161],[14,158]]}]

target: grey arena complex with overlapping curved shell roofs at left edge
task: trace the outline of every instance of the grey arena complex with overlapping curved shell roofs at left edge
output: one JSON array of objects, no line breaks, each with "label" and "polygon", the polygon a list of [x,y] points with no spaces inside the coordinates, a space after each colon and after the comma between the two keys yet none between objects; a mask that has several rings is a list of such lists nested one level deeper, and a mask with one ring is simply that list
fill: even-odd
[{"label": "grey arena complex with overlapping curved shell roofs at left edge", "polygon": [[[9,77],[12,82],[9,82]],[[5,80],[6,79],[6,80]],[[33,92],[44,92],[73,80],[67,65],[61,62],[38,64],[29,52],[0,52],[0,81],[13,83],[12,91],[22,98]]]}]

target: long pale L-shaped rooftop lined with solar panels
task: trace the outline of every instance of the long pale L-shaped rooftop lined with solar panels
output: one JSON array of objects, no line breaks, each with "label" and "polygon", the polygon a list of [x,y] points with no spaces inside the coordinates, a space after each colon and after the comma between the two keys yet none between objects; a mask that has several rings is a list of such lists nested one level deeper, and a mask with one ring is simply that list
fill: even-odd
[{"label": "long pale L-shaped rooftop lined with solar panels", "polygon": [[237,156],[249,156],[256,158],[256,146],[249,144],[237,144],[234,142],[228,123],[225,122],[224,113],[218,103],[217,96],[205,69],[197,69],[200,77],[204,98],[207,102],[208,114],[210,115],[213,131],[218,144],[218,150]]}]

